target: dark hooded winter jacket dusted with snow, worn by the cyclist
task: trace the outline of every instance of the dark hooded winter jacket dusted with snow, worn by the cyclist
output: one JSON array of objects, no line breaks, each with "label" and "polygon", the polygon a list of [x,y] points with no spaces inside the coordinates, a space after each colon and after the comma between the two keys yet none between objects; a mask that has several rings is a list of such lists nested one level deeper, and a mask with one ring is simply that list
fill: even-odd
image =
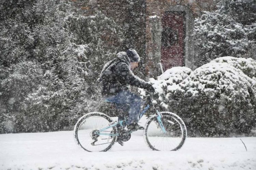
[{"label": "dark hooded winter jacket dusted with snow, worn by the cyclist", "polygon": [[116,58],[104,65],[99,80],[102,82],[103,97],[116,95],[121,90],[130,91],[130,85],[144,89],[151,86],[132,73],[126,52],[117,53]]}]

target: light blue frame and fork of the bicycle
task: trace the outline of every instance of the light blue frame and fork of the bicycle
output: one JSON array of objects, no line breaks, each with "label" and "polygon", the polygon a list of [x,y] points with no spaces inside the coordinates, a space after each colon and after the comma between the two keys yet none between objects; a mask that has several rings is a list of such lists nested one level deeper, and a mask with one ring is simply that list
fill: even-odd
[{"label": "light blue frame and fork of the bicycle", "polygon": [[[147,100],[148,100],[148,102],[147,102]],[[156,111],[156,114],[157,114],[157,120],[158,120],[158,123],[159,123],[159,125],[160,125],[160,128],[162,129],[162,131],[163,131],[163,133],[166,133],[166,130],[165,130],[165,128],[163,127],[163,123],[162,123],[162,121],[161,121],[161,118],[162,118],[162,114],[160,113],[160,111],[159,111],[159,108],[157,107],[155,107],[154,106],[154,104],[153,104],[153,102],[152,102],[152,99],[151,99],[151,96],[150,95],[148,95],[147,96],[147,98],[145,99],[145,102],[143,103],[143,104],[145,104],[145,103],[147,103],[146,104],[146,106],[144,107],[144,109],[140,112],[140,114],[139,114],[139,120],[141,119],[141,117],[146,113],[146,111],[148,110],[148,108],[150,108],[150,106],[153,106],[154,107],[154,109],[155,109],[155,111]],[[125,120],[120,120],[120,121],[118,121],[118,122],[114,122],[113,124],[110,124],[108,127],[106,127],[106,128],[103,128],[103,129],[100,129],[100,130],[98,130],[97,132],[96,132],[96,134],[97,135],[106,135],[106,136],[119,136],[120,134],[113,134],[113,133],[104,133],[104,131],[106,130],[106,129],[109,129],[109,128],[111,128],[111,127],[113,127],[113,126],[116,126],[117,124],[120,124],[120,126],[125,126]],[[103,133],[102,133],[103,132]],[[131,133],[131,132],[130,132]]]}]

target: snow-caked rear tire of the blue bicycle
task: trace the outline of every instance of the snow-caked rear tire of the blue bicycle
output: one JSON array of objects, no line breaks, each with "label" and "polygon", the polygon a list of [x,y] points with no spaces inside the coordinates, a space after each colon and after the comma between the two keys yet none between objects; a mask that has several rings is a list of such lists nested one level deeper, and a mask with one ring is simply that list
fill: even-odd
[{"label": "snow-caked rear tire of the blue bicycle", "polygon": [[[105,120],[107,120],[109,123],[113,122],[113,120],[106,114],[104,113],[100,113],[100,112],[90,112],[90,113],[87,113],[85,115],[83,115],[75,124],[75,127],[74,127],[74,140],[76,142],[77,145],[79,145],[81,148],[83,148],[85,151],[88,151],[88,152],[94,152],[94,151],[91,151],[89,149],[86,149],[85,146],[83,146],[81,144],[81,141],[82,139],[80,139],[79,137],[79,128],[85,123],[85,120],[90,118],[90,117],[93,117],[93,116],[96,116],[96,117],[101,117],[101,118],[104,118]],[[89,123],[89,122],[88,122]],[[104,128],[104,127],[103,127]],[[115,126],[112,127],[112,132],[113,133],[116,133],[117,132],[117,129]],[[112,136],[112,141],[110,142],[109,146],[107,146],[106,148],[98,151],[98,152],[106,152],[106,151],[109,151],[115,141],[116,141],[116,136]]]}]

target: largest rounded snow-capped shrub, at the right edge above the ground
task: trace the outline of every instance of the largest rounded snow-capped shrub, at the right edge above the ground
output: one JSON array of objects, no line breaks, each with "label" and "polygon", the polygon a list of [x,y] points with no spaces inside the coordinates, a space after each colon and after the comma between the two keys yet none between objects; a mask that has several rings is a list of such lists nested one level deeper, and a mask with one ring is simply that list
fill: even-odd
[{"label": "largest rounded snow-capped shrub, at the right edge above the ground", "polygon": [[192,106],[182,115],[190,117],[192,130],[203,134],[249,133],[255,123],[252,84],[254,80],[227,63],[205,64],[180,84]]}]

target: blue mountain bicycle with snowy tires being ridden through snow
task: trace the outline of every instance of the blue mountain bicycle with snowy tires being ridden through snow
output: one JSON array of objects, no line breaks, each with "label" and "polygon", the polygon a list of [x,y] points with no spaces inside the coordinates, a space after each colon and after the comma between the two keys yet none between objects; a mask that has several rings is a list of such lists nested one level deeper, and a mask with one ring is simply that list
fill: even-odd
[{"label": "blue mountain bicycle with snowy tires being ridden through snow", "polygon": [[[174,113],[160,112],[159,107],[154,106],[150,95],[146,96],[143,104],[145,107],[139,114],[139,120],[150,107],[155,112],[147,119],[143,132],[147,146],[155,151],[179,150],[187,137],[183,120]],[[132,131],[125,129],[125,122],[126,119],[113,121],[100,112],[85,114],[75,124],[75,142],[89,152],[108,151],[117,142],[117,138],[122,141],[131,138]]]}]

